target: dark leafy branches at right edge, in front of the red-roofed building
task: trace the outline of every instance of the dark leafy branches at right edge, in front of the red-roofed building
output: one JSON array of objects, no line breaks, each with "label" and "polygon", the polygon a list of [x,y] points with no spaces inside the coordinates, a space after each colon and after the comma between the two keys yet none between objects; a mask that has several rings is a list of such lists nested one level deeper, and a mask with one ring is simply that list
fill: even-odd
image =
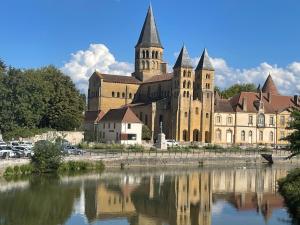
[{"label": "dark leafy branches at right edge, in front of the red-roofed building", "polygon": [[289,149],[292,154],[287,158],[290,159],[296,155],[300,154],[300,111],[299,109],[294,109],[291,113],[291,121],[289,124],[289,129],[293,130],[293,133],[288,135],[284,140],[289,141]]}]

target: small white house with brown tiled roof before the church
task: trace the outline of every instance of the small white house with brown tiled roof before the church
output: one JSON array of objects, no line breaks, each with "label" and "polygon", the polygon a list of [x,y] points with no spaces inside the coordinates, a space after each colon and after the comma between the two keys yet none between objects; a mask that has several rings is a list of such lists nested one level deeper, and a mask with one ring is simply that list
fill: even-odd
[{"label": "small white house with brown tiled roof before the church", "polygon": [[141,144],[142,122],[129,107],[109,110],[97,124],[97,141]]}]

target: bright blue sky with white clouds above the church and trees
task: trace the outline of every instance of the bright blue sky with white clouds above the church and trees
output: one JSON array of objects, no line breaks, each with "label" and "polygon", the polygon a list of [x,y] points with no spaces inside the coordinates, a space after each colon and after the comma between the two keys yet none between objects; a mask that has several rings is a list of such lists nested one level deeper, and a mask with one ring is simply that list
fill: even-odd
[{"label": "bright blue sky with white clouds above the church and trees", "polygon": [[[150,1],[0,0],[0,58],[19,68],[53,64],[86,92],[91,73],[129,75]],[[208,49],[216,84],[263,83],[300,92],[299,0],[152,0],[171,70],[183,43],[196,64]]]}]

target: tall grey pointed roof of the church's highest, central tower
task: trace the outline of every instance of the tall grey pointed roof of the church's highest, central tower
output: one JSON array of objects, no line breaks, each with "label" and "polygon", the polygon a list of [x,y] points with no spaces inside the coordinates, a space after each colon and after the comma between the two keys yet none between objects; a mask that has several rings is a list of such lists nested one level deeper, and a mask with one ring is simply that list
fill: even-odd
[{"label": "tall grey pointed roof of the church's highest, central tower", "polygon": [[162,48],[151,5],[149,6],[147,16],[136,47]]}]

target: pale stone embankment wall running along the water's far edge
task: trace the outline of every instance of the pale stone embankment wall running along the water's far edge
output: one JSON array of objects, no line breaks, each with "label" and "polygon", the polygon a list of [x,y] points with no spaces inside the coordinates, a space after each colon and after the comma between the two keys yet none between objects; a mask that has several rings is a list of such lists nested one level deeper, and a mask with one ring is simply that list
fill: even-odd
[{"label": "pale stone embankment wall running along the water's far edge", "polygon": [[[294,164],[300,166],[300,158],[285,160],[289,152],[273,151],[275,164]],[[102,161],[105,168],[130,167],[171,167],[171,166],[204,166],[204,165],[245,165],[263,164],[266,161],[260,153],[248,152],[127,152],[127,153],[86,153],[80,156],[68,156],[64,161]],[[0,174],[6,167],[28,164],[29,159],[9,159],[0,161]]]}]

